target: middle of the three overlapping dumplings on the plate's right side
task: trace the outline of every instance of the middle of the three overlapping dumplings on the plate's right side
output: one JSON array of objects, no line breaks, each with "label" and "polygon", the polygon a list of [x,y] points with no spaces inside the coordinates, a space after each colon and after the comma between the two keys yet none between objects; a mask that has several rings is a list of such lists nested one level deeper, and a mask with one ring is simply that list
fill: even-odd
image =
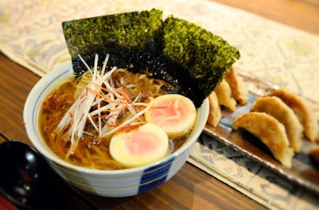
[{"label": "middle of the three overlapping dumplings on the plate's right side", "polygon": [[257,98],[252,107],[250,107],[250,110],[254,112],[265,112],[284,124],[290,146],[295,152],[301,150],[303,126],[293,110],[280,98],[275,96]]}]

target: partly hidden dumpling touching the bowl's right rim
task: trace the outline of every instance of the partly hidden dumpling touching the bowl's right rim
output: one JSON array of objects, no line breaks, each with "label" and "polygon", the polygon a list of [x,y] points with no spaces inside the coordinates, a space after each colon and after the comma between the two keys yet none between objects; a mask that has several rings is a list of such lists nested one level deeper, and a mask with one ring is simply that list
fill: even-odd
[{"label": "partly hidden dumpling touching the bowl's right rim", "polygon": [[208,124],[211,124],[213,127],[217,127],[220,119],[222,117],[220,106],[218,104],[218,99],[216,93],[213,91],[210,95],[208,95],[209,101],[209,115],[208,115]]}]

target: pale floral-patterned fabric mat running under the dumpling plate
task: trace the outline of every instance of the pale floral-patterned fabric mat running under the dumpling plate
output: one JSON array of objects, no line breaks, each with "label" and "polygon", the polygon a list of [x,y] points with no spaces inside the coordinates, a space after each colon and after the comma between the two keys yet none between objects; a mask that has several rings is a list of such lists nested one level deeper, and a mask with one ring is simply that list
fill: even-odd
[{"label": "pale floral-patterned fabric mat running under the dumpling plate", "polygon": [[[0,50],[43,76],[70,59],[61,22],[160,8],[240,49],[238,67],[319,103],[319,36],[211,1],[0,1]],[[262,27],[261,27],[262,25]],[[318,197],[202,135],[189,162],[269,209],[316,209]]]}]

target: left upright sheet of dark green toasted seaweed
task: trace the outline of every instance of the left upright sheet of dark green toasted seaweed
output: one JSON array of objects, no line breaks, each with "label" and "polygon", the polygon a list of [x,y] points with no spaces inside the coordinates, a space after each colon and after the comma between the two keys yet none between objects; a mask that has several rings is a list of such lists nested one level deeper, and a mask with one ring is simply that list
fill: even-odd
[{"label": "left upright sheet of dark green toasted seaweed", "polygon": [[[95,54],[111,54],[109,66],[132,66],[135,54],[161,54],[162,11],[136,11],[62,22],[76,76],[86,71],[78,54],[93,66]],[[102,60],[102,59],[100,59]]]}]

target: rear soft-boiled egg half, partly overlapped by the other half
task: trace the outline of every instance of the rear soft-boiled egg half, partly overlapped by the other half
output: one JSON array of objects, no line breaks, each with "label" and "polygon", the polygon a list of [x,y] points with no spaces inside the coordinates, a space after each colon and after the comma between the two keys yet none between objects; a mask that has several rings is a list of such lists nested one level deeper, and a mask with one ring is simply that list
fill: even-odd
[{"label": "rear soft-boiled egg half, partly overlapped by the other half", "polygon": [[196,121],[194,103],[183,95],[161,95],[145,113],[147,122],[157,124],[171,137],[183,136],[191,131]]}]

